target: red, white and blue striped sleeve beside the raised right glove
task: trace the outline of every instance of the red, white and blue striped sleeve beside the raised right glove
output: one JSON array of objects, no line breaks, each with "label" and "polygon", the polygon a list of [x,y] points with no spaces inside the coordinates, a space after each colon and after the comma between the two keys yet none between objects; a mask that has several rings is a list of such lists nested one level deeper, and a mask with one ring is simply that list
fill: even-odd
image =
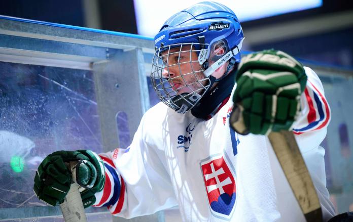
[{"label": "red, white and blue striped sleeve beside the raised right glove", "polygon": [[319,77],[310,68],[304,69],[308,80],[301,96],[301,112],[293,127],[296,135],[325,128],[331,119],[330,107]]}]

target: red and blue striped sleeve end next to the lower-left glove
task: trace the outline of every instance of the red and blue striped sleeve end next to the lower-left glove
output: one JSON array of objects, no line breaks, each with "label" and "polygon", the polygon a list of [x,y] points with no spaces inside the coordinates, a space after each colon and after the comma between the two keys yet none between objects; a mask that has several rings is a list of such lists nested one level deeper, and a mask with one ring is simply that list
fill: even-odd
[{"label": "red and blue striped sleeve end next to the lower-left glove", "polygon": [[[113,151],[118,152],[119,149]],[[108,207],[109,211],[116,215],[121,212],[125,199],[125,183],[123,177],[117,172],[117,168],[107,154],[99,154],[104,162],[105,167],[105,184],[104,189],[95,194],[96,202],[94,206]]]}]

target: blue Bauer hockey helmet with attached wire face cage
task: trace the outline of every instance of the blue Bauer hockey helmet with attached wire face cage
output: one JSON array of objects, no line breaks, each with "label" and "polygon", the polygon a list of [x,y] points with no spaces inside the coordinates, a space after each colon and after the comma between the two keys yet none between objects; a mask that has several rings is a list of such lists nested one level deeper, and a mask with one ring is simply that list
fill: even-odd
[{"label": "blue Bauer hockey helmet with attached wire face cage", "polygon": [[[233,65],[240,62],[243,39],[236,15],[219,3],[201,2],[171,16],[155,36],[156,52],[152,61],[151,79],[161,101],[180,113],[194,107],[213,84],[209,79],[211,74],[229,60]],[[222,54],[215,52],[219,47],[224,49]],[[197,53],[197,60],[190,56],[190,61],[181,63],[178,59],[170,65],[168,60],[172,54],[180,57],[182,53],[191,55],[191,52]],[[180,69],[185,63],[198,63],[200,69],[191,68],[188,73],[180,70],[178,76],[170,75],[172,66]],[[187,75],[194,76],[196,80],[188,82]],[[180,84],[175,85],[173,78],[181,79],[178,80]],[[196,89],[195,84],[199,85]],[[183,88],[188,91],[183,91]]]}]

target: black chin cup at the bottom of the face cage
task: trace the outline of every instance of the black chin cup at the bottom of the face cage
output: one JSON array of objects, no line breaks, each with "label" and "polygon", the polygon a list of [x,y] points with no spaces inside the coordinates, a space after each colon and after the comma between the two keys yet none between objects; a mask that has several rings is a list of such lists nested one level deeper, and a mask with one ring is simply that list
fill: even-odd
[{"label": "black chin cup at the bottom of the face cage", "polygon": [[177,113],[186,113],[201,99],[197,93],[182,93],[170,100],[170,106]]}]

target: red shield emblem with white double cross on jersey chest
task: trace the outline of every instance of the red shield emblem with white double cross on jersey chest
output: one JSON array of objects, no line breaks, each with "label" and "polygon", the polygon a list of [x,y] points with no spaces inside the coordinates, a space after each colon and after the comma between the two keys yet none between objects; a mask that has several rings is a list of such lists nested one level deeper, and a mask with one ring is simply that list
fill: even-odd
[{"label": "red shield emblem with white double cross on jersey chest", "polygon": [[211,212],[229,219],[234,211],[236,186],[226,154],[204,159],[200,163]]}]

